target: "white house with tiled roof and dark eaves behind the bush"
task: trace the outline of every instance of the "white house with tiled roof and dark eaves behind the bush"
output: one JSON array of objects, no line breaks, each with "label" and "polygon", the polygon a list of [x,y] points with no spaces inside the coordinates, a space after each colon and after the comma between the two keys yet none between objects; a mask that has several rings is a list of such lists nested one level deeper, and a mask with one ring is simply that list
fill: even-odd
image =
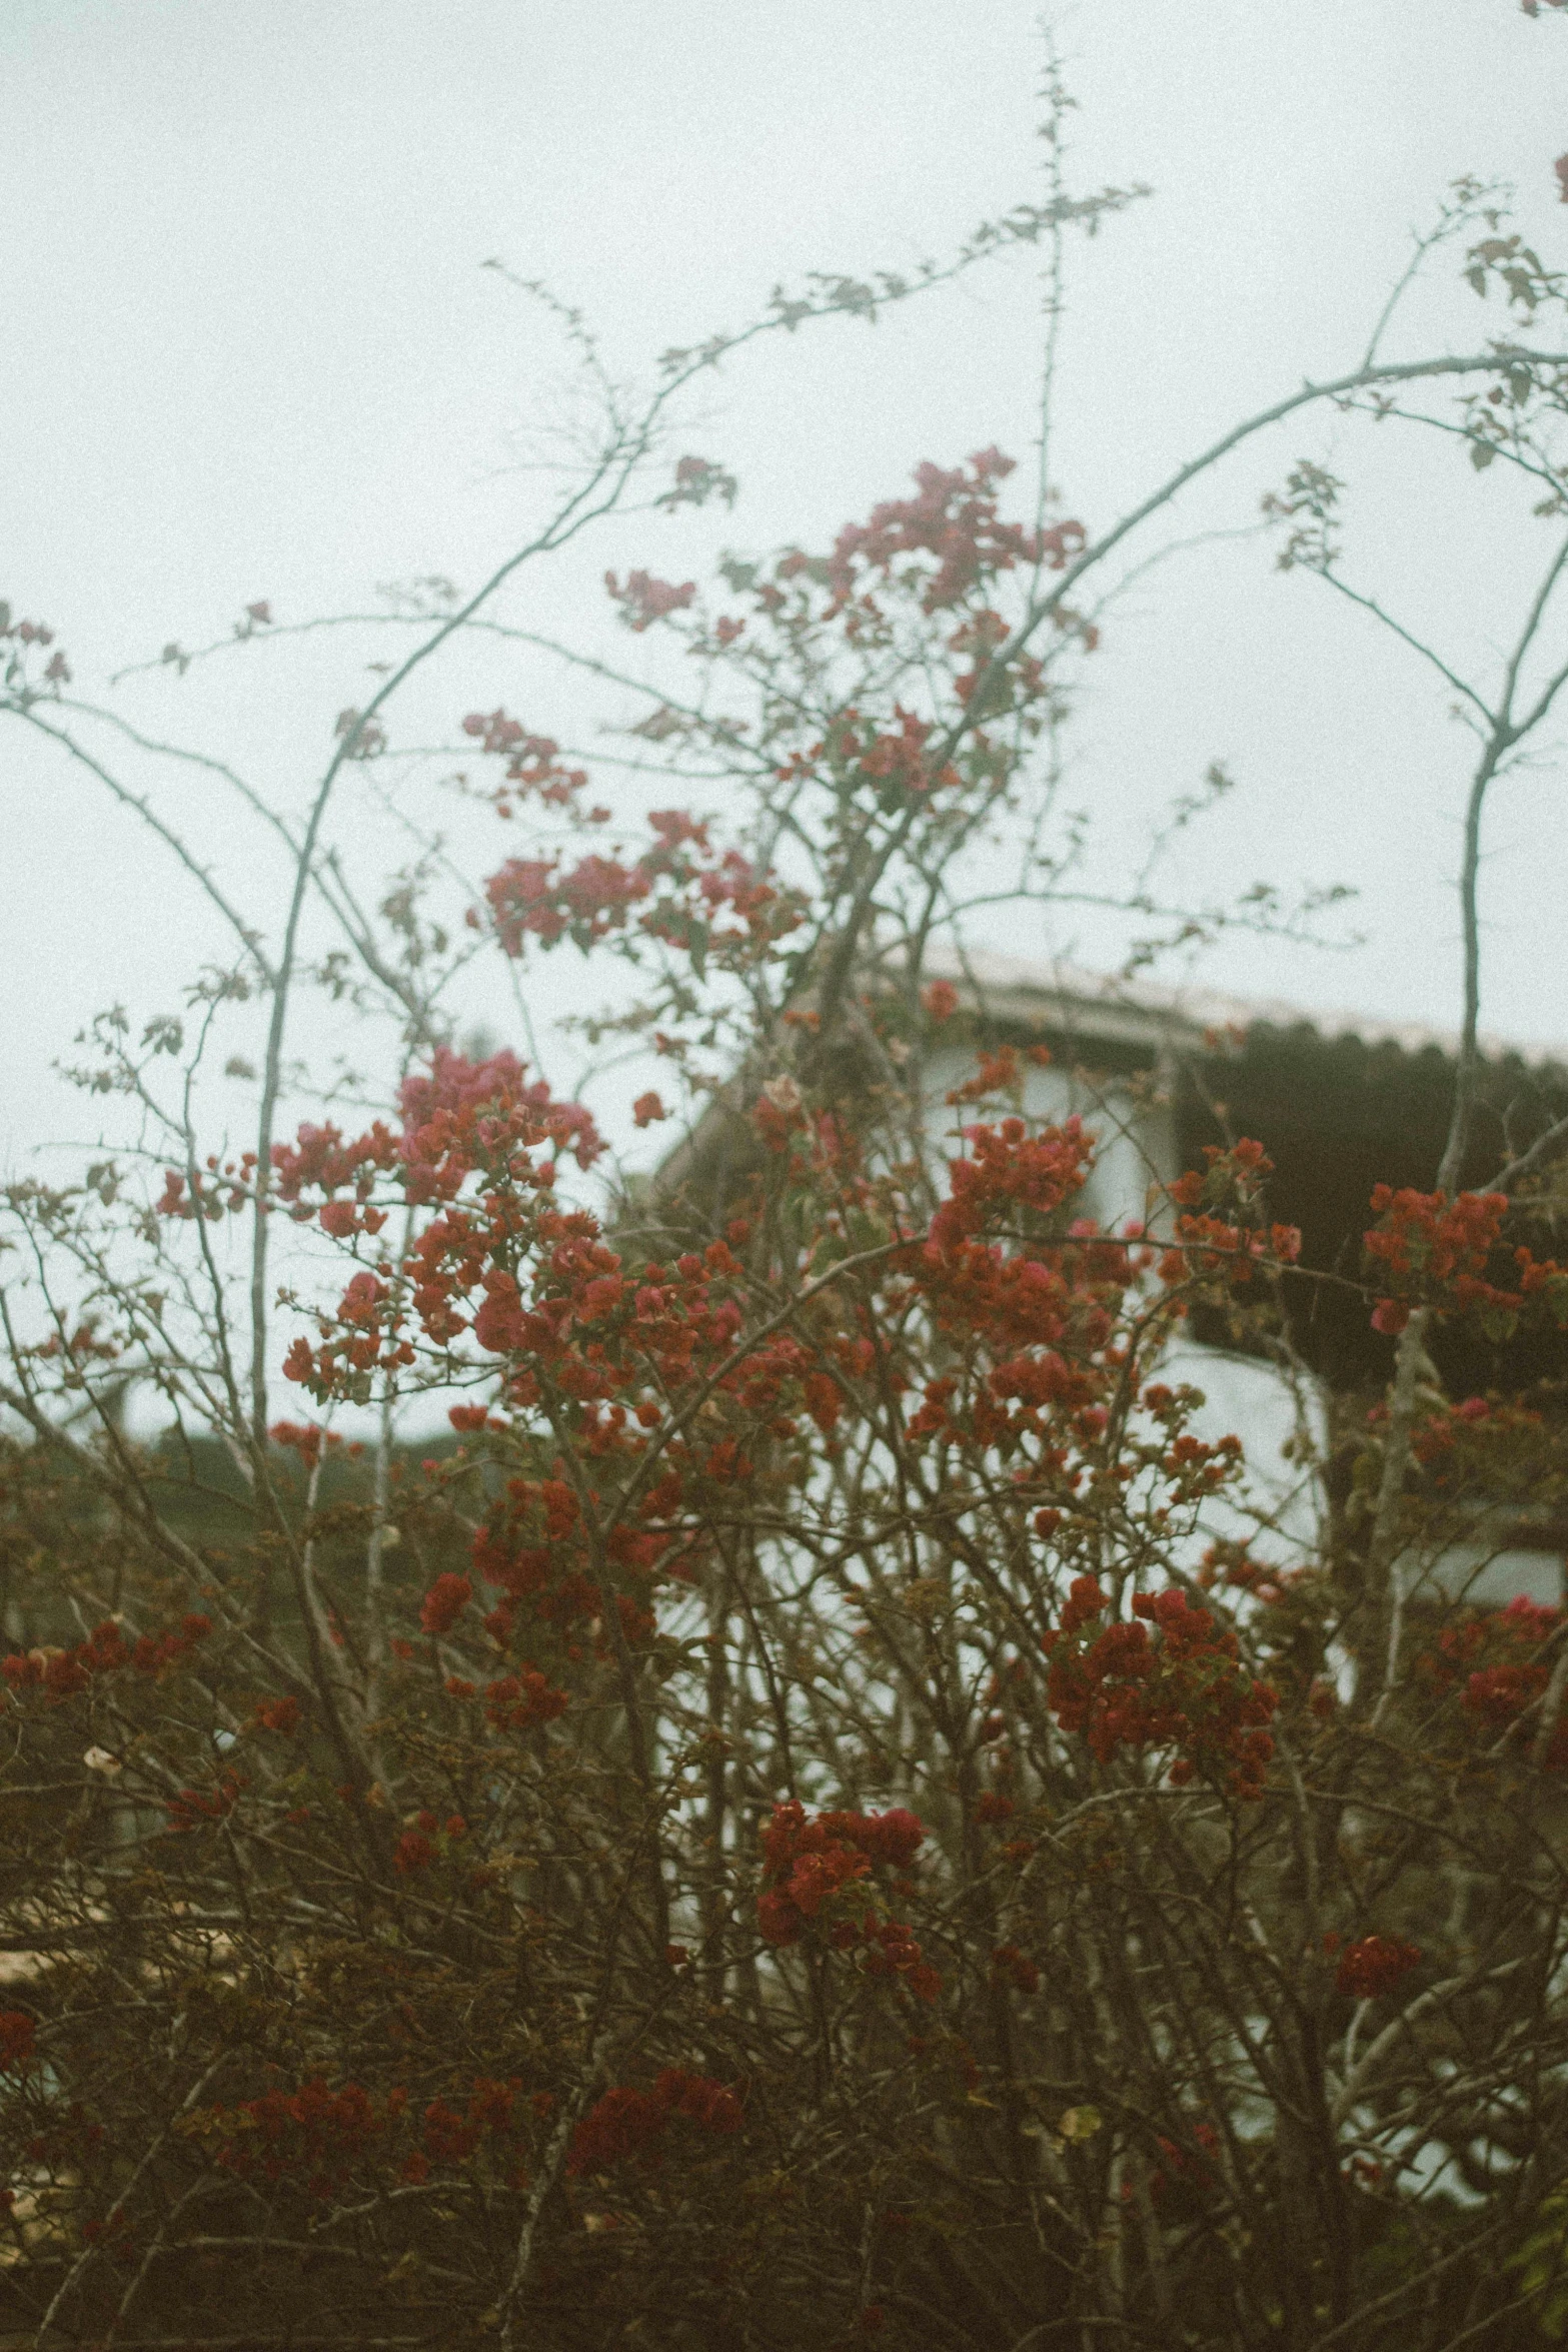
[{"label": "white house with tiled roof and dark eaves behind the bush", "polygon": [[[973,1073],[978,1044],[1046,1044],[1046,1068],[1025,1063],[1025,1110],[1032,1117],[1077,1110],[1098,1134],[1081,1214],[1103,1228],[1143,1221],[1150,1188],[1201,1167],[1204,1143],[1255,1136],[1274,1160],[1269,1214],[1302,1228],[1302,1263],[1356,1275],[1373,1183],[1420,1190],[1434,1183],[1453,1101],[1453,1035],[999,955],[933,957],[926,971],[959,993],[947,1025],[952,1042],[940,1042],[924,1068],[931,1134],[940,1136],[954,1117],[940,1105]],[[1483,1051],[1467,1169],[1467,1183],[1476,1185],[1509,1157],[1502,1136],[1509,1105],[1535,1103],[1542,1117],[1568,1110],[1568,1049],[1483,1040]],[[701,1183],[710,1169],[722,1183],[736,1148],[726,1136],[738,1134],[743,1122],[715,1105],[665,1162],[661,1190]],[[1389,1357],[1389,1343],[1368,1327],[1363,1298],[1349,1289],[1300,1284],[1291,1338],[1305,1364],[1295,1381],[1255,1350],[1227,1345],[1225,1331],[1201,1319],[1171,1362],[1171,1374],[1208,1399],[1204,1432],[1241,1435],[1253,1501],[1276,1522],[1286,1555],[1314,1545],[1324,1508],[1321,1475],[1302,1461],[1302,1435],[1321,1463],[1333,1399],[1375,1392]],[[1448,1331],[1434,1341],[1434,1355],[1450,1395],[1568,1376],[1568,1341],[1490,1350]],[[1472,1536],[1413,1573],[1434,1573],[1446,1590],[1488,1606],[1519,1592],[1559,1602],[1566,1550],[1568,1522],[1476,1505]]]}]

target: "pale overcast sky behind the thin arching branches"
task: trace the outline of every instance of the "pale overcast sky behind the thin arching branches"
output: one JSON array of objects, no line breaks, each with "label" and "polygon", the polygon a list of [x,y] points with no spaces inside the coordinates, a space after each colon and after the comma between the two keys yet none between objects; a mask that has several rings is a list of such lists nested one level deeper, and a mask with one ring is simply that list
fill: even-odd
[{"label": "pale overcast sky behind the thin arching branches", "polygon": [[[0,595],[47,619],[78,689],[179,637],[364,607],[378,581],[475,583],[527,536],[520,466],[562,353],[494,273],[543,275],[616,367],[752,315],[778,278],[903,268],[1039,193],[1032,0],[7,0],[0,9]],[[1521,191],[1568,266],[1568,19],[1514,0],[1081,0],[1056,12],[1079,99],[1072,176],[1154,198],[1074,252],[1053,473],[1105,524],[1302,376],[1354,365],[1413,223],[1460,172]],[[1401,348],[1479,348],[1469,296],[1418,301]],[[512,616],[607,628],[604,564],[684,576],[719,541],[823,541],[914,461],[1027,459],[1037,273],[1018,259],[875,332],[771,343],[705,386],[691,445],[743,501],[722,527],[621,522]],[[1331,426],[1253,452],[1178,529],[1248,522]],[[1542,524],[1462,452],[1392,456],[1354,560],[1458,666],[1495,659]],[[1154,541],[1150,541],[1152,546]],[[1568,623],[1559,621],[1559,640]],[[625,654],[625,640],[621,640]],[[221,750],[294,804],[374,649],[275,647],[115,689],[136,727]],[[1450,1023],[1450,877],[1467,739],[1448,696],[1307,579],[1244,543],[1147,579],[1107,633],[1074,736],[1079,797],[1128,840],[1225,760],[1239,783],[1192,884],[1352,880],[1347,955],[1234,943],[1213,985]],[[470,694],[473,689],[473,694]],[[527,715],[552,724],[550,682]],[[524,691],[458,668],[449,717]],[[430,703],[430,724],[437,724]],[[576,706],[562,696],[567,720]],[[607,710],[614,717],[614,710]],[[449,720],[447,720],[449,722]],[[562,731],[564,731],[562,722]],[[1568,710],[1556,729],[1568,743]],[[143,779],[146,781],[146,779]],[[1568,1037],[1563,764],[1500,793],[1486,1025]],[[197,783],[165,802],[256,917],[256,844]],[[167,856],[80,776],[0,736],[7,889],[0,1162],[89,1136],[49,1077],[99,1004],[172,1004],[216,953]],[[268,896],[270,894],[270,896]],[[1058,924],[997,943],[1100,953]],[[543,993],[574,985],[552,967]]]}]

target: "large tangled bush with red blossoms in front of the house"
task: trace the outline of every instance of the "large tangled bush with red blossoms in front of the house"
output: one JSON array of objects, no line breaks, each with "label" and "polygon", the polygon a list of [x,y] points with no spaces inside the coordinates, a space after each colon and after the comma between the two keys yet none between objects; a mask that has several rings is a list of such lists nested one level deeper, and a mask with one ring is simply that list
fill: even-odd
[{"label": "large tangled bush with red blossoms in front of the house", "polygon": [[[1018,207],[954,268],[1121,202]],[[1479,292],[1556,303],[1476,219]],[[766,325],[938,282],[813,280]],[[637,423],[614,395],[541,548],[729,348],[668,355]],[[1561,506],[1561,358],[1429,374]],[[1418,376],[1295,405],[1392,423]],[[1192,468],[1098,536],[1041,485],[1011,513],[1011,473],[922,463],[712,602],[611,572],[651,666],[616,809],[451,687],[475,887],[430,835],[362,891],[350,795],[430,743],[376,668],[270,830],[282,917],[190,854],[235,969],[190,1035],[94,1030],[125,1167],[7,1190],[7,2343],[1552,2340],[1509,2279],[1554,2277],[1568,2169],[1566,1618],[1472,1588],[1568,1491],[1561,1397],[1495,1355],[1568,1319],[1554,1131],[1460,1183],[1472,1021],[1443,1167],[1378,1185],[1359,1279],[1316,1197],[1274,1214],[1262,1141],[1154,1141],[1218,1047],[1077,1068],[997,1014],[966,908],[1020,821],[1030,922],[1077,903],[1100,567]],[[679,459],[644,524],[733,492]],[[1335,496],[1291,477],[1286,567],[1328,569]],[[440,604],[428,680],[494,654],[491,590]],[[59,743],[68,666],[0,640],[0,715]],[[1476,790],[1523,731],[1493,713]],[[543,953],[585,962],[564,1091],[534,1037],[456,1042],[484,976],[543,1028]],[[317,1096],[308,985],[334,1051],[367,1037]],[[205,1073],[256,1000],[230,1150]],[[1110,1218],[1114,1129],[1150,1167]],[[1314,1298],[1394,1341],[1387,1395],[1319,1378]],[[1211,1331],[1291,1404],[1284,1501],[1206,1404]],[[1493,1357],[1448,1395],[1455,1336]]]}]

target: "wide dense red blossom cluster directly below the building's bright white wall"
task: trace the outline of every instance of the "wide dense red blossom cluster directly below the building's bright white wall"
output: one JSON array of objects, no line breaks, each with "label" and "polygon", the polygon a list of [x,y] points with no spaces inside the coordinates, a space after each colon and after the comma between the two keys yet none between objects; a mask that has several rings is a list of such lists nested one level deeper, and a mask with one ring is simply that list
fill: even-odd
[{"label": "wide dense red blossom cluster directly below the building's bright white wall", "polygon": [[1237,1797],[1260,1797],[1279,1691],[1246,1672],[1234,1632],[1178,1590],[1140,1592],[1133,1618],[1093,1632],[1107,1609],[1093,1576],[1077,1576],[1046,1635],[1046,1691],[1063,1731],[1081,1731],[1100,1764],[1117,1748],[1178,1748],[1178,1785],[1201,1769]]}]

